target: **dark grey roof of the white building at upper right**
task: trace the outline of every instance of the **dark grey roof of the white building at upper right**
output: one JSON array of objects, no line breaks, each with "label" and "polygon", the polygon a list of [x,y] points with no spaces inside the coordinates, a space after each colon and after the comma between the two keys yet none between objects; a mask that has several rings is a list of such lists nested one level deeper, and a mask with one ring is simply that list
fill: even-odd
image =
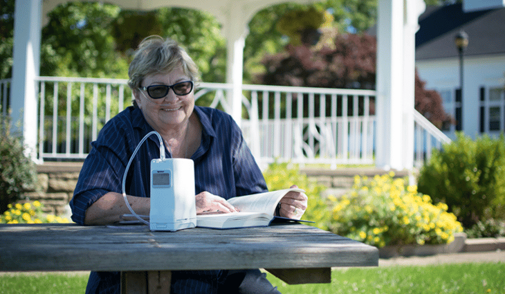
[{"label": "dark grey roof of the white building at upper right", "polygon": [[416,60],[458,56],[455,36],[468,34],[465,55],[505,53],[505,8],[463,12],[461,3],[430,6],[419,17]]}]

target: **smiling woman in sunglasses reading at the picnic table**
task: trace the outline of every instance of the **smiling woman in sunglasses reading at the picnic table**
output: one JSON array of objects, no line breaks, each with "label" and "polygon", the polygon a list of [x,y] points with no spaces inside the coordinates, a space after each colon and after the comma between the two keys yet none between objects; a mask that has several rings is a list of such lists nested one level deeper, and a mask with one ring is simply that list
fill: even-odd
[{"label": "smiling woman in sunglasses reading at the picnic table", "polygon": [[[181,46],[148,37],[128,74],[134,106],[107,122],[92,143],[70,203],[73,221],[104,225],[130,213],[122,198],[122,176],[140,140],[153,130],[169,146],[168,156],[194,160],[197,214],[237,211],[226,199],[266,192],[237,124],[222,111],[194,105],[199,72]],[[127,175],[127,199],[138,214],[149,214],[150,162],[159,158],[158,139],[153,137],[139,149]],[[300,219],[306,205],[306,195],[291,192],[277,213]],[[175,272],[171,288],[172,293],[279,293],[259,270]],[[119,291],[119,273],[91,273],[86,293]]]}]

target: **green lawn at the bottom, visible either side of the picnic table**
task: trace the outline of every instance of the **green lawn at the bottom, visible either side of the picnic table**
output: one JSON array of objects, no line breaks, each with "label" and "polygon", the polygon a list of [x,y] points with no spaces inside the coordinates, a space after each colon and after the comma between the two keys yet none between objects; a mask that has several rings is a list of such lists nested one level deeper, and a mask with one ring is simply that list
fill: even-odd
[{"label": "green lawn at the bottom, visible either side of the picnic table", "polygon": [[[443,264],[332,270],[331,284],[288,286],[268,275],[284,294],[317,293],[498,293],[505,294],[505,264]],[[87,275],[2,274],[0,293],[84,293]]]}]

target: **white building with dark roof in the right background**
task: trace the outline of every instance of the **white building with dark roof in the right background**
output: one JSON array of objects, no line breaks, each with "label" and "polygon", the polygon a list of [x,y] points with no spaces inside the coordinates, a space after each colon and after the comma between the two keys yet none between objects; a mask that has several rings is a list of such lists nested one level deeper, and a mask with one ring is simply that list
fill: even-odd
[{"label": "white building with dark roof in the right background", "polygon": [[[455,138],[455,131],[472,138],[497,136],[505,131],[505,8],[465,8],[461,3],[426,8],[416,33],[416,68],[456,120],[444,126],[447,136]],[[462,81],[455,45],[461,30],[468,35]]]}]

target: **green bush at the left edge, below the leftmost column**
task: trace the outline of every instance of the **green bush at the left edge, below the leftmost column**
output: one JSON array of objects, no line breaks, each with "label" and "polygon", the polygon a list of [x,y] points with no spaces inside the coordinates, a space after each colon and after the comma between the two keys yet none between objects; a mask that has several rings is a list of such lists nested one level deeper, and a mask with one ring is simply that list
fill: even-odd
[{"label": "green bush at the left edge, below the leftmost column", "polygon": [[0,213],[37,183],[35,165],[24,151],[21,138],[10,132],[10,118],[0,114]]}]

